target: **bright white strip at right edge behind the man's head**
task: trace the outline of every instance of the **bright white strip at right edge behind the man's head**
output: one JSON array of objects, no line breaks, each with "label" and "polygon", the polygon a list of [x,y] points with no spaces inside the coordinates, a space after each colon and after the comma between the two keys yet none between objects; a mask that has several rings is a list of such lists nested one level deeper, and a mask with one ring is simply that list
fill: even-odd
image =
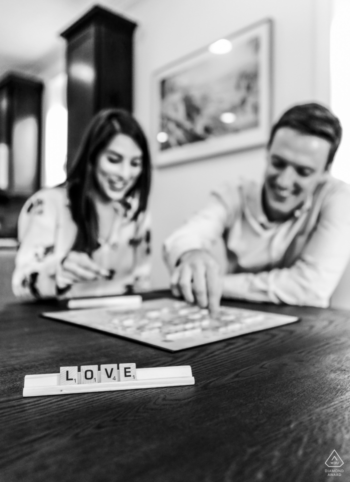
[{"label": "bright white strip at right edge behind the man's head", "polygon": [[334,177],[350,182],[350,2],[334,0],[330,30],[330,103],[343,127],[331,168]]}]

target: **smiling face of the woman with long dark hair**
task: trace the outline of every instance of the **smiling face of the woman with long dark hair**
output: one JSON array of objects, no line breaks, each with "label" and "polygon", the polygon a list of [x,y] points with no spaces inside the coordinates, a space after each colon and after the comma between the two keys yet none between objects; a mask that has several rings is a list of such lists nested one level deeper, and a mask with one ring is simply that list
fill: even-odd
[{"label": "smiling face of the woman with long dark hair", "polygon": [[125,134],[116,134],[97,155],[95,177],[101,193],[120,201],[136,183],[142,171],[142,151]]}]

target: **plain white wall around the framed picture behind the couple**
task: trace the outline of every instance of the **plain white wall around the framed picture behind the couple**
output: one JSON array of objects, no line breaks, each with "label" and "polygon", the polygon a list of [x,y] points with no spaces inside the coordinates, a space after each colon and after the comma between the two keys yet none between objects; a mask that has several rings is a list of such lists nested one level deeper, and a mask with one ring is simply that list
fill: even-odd
[{"label": "plain white wall around the framed picture behind the couple", "polygon": [[[135,36],[135,115],[150,135],[151,75],[212,41],[262,18],[274,20],[275,119],[296,102],[329,103],[331,0],[143,0],[126,12],[138,23]],[[255,149],[154,169],[153,286],[167,286],[161,243],[202,205],[211,186],[240,174],[258,177],[264,151]]]}]

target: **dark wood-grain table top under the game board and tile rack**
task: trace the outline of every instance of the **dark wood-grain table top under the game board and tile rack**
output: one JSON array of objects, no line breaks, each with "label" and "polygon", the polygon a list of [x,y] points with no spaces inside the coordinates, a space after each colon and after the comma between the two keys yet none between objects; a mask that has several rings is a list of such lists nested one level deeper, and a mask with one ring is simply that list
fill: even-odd
[{"label": "dark wood-grain table top under the game board and tile rack", "polygon": [[[227,304],[301,322],[170,353],[8,305],[1,482],[321,482],[333,449],[349,481],[350,312]],[[22,398],[25,374],[122,360],[190,364],[195,385]]]}]

